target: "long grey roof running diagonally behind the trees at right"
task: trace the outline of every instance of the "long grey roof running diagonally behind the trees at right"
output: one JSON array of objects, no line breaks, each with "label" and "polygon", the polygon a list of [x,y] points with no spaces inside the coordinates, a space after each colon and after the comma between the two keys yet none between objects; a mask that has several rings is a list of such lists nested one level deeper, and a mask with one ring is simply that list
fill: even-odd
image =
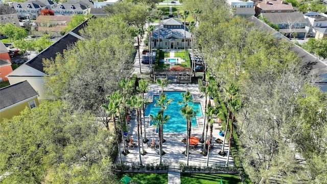
[{"label": "long grey roof running diagonally behind the trees at right", "polygon": [[283,39],[285,41],[291,42],[293,45],[291,50],[295,52],[296,55],[302,61],[301,69],[304,74],[319,76],[327,73],[327,65],[322,63],[319,59],[314,57],[312,54],[308,53],[306,50],[303,50],[298,45],[294,44],[291,40],[289,40],[281,33],[277,32],[276,30],[272,29],[270,26],[266,25],[265,22],[259,20],[255,16],[251,16],[247,20],[253,22],[256,28],[258,28],[258,30],[273,35],[278,39]]}]

